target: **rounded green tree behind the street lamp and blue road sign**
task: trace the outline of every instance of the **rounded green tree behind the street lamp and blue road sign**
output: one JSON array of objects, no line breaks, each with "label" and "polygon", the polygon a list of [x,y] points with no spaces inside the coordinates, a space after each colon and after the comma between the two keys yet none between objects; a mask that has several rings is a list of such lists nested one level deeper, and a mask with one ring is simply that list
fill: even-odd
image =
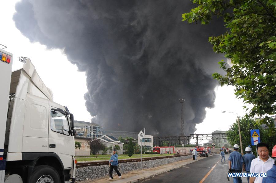
[{"label": "rounded green tree behind the street lamp and blue road sign", "polygon": [[[245,153],[245,147],[251,145],[251,133],[250,130],[259,129],[260,130],[260,138],[261,142],[267,143],[269,145],[269,152],[271,153],[274,144],[276,144],[275,136],[269,136],[269,130],[263,129],[261,126],[256,122],[256,120],[252,117],[243,116],[240,119],[240,131],[241,131],[241,139],[243,143],[243,151]],[[231,127],[226,132],[227,139],[232,147],[234,144],[238,144],[240,147],[240,136],[239,136],[239,129],[238,129],[238,120],[231,125]],[[256,147],[252,146],[252,152],[256,156]],[[240,149],[239,149],[240,151]]]}]

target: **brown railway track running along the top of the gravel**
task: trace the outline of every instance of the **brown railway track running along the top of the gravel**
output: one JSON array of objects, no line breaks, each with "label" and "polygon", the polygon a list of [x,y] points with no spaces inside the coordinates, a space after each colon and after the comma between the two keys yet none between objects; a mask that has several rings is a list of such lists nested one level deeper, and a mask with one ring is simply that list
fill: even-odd
[{"label": "brown railway track running along the top of the gravel", "polygon": [[[178,155],[172,155],[172,156],[148,157],[148,158],[143,158],[142,161],[164,159],[164,158],[175,158],[175,157],[188,156],[188,155],[192,155],[192,154],[178,154]],[[141,161],[141,158],[118,159],[118,163],[140,162],[140,161]],[[81,167],[86,167],[86,166],[100,166],[100,165],[109,165],[109,161],[77,163],[76,168],[81,168]]]}]

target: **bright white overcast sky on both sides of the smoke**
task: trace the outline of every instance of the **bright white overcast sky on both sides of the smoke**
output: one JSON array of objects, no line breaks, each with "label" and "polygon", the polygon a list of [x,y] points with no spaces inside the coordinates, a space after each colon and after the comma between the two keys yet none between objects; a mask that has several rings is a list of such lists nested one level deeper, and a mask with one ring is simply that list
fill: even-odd
[{"label": "bright white overcast sky on both sides of the smoke", "polygon": [[[18,61],[18,57],[29,57],[45,85],[52,90],[54,101],[66,105],[70,112],[74,113],[75,120],[91,121],[92,116],[86,109],[84,99],[84,94],[87,92],[85,72],[78,71],[78,67],[67,60],[67,55],[63,50],[47,49],[45,45],[38,42],[31,43],[28,38],[23,36],[13,21],[15,2],[2,1],[1,14],[4,18],[2,18],[1,25],[5,25],[5,28],[0,29],[0,44],[7,46],[5,50],[13,53],[14,56],[13,70],[19,69],[23,65]],[[53,80],[53,78],[55,79]],[[60,78],[60,82],[57,82],[56,78]],[[64,79],[70,82],[65,83]],[[240,116],[245,114],[242,100],[236,99],[232,86],[216,86],[215,93],[214,107],[206,108],[205,119],[202,123],[196,124],[195,133],[197,134],[228,130],[237,116],[233,113],[222,113],[222,111],[237,112]],[[180,110],[179,104],[179,113]],[[147,126],[140,128],[144,127],[147,128]]]}]

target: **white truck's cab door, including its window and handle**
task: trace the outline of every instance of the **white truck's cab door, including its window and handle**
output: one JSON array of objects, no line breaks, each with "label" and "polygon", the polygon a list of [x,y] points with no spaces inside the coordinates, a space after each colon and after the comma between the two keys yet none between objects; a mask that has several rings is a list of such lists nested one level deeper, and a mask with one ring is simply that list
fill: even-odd
[{"label": "white truck's cab door, including its window and handle", "polygon": [[73,137],[70,135],[67,115],[49,106],[49,144],[48,152],[56,153],[63,162],[64,168],[71,168],[73,154]]}]

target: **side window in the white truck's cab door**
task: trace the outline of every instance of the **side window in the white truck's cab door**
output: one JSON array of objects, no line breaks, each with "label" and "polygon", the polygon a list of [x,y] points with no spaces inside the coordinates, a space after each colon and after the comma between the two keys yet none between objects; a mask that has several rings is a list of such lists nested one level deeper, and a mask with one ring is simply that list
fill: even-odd
[{"label": "side window in the white truck's cab door", "polygon": [[68,116],[55,109],[51,109],[51,129],[64,135],[69,135]]}]

